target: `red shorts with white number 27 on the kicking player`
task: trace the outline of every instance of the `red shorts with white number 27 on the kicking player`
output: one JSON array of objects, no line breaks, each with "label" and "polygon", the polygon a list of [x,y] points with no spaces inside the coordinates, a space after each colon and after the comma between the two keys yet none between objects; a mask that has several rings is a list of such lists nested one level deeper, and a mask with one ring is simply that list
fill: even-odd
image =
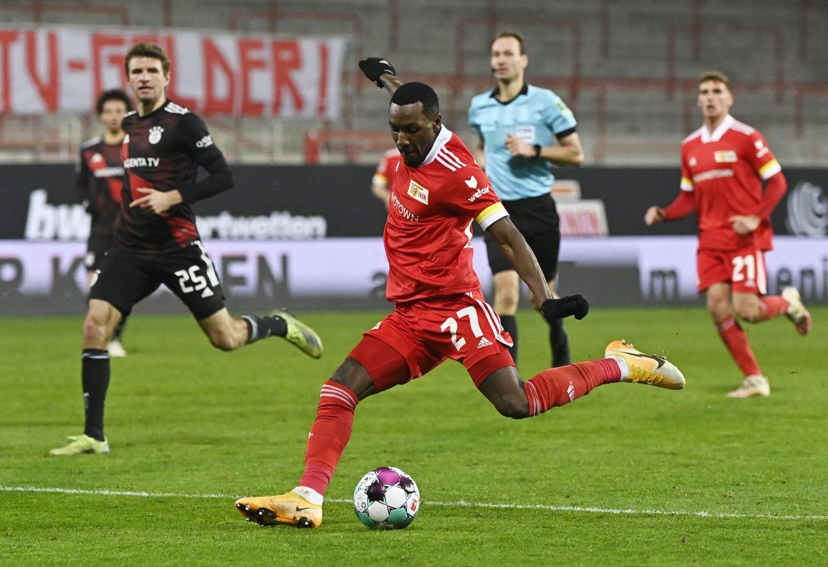
[{"label": "red shorts with white number 27 on the kicking player", "polygon": [[470,291],[398,303],[349,357],[368,371],[377,392],[421,377],[446,358],[463,363],[479,386],[495,370],[515,365],[512,344],[483,294]]}]

